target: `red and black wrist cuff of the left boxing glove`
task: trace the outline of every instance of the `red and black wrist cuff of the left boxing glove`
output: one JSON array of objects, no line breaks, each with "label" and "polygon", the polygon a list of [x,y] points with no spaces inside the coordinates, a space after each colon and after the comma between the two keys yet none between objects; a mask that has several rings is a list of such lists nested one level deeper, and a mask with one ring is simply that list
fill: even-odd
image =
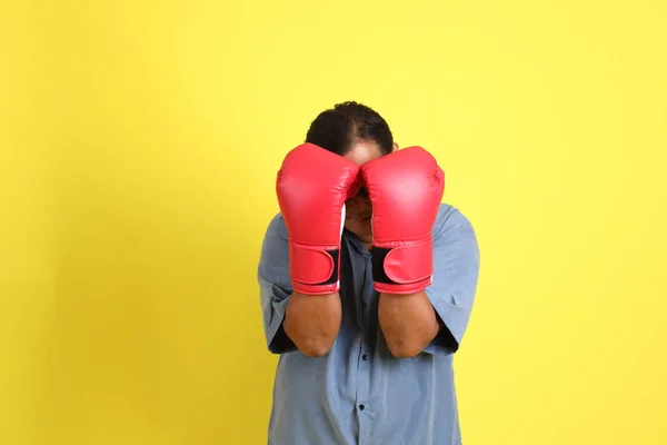
[{"label": "red and black wrist cuff of the left boxing glove", "polygon": [[339,289],[340,249],[290,241],[289,271],[295,290],[307,295],[332,294]]}]

